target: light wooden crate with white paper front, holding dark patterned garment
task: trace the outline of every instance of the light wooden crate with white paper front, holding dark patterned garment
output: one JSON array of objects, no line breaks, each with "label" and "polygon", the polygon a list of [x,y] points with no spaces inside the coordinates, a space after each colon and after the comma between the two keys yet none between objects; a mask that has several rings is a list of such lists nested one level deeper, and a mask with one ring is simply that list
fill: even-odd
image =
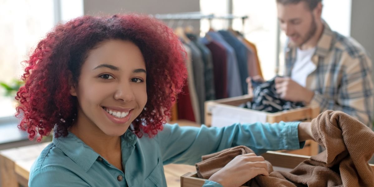
[{"label": "light wooden crate with white paper front, holding dark patterned garment", "polygon": [[[266,122],[269,122],[269,123],[278,123],[280,121],[284,121],[284,122],[309,121],[310,122],[312,119],[314,119],[315,117],[319,115],[319,107],[315,107],[315,106],[306,106],[306,107],[296,108],[292,110],[280,111],[276,113],[269,113],[269,112],[252,110],[248,108],[237,107],[241,104],[245,104],[248,101],[252,101],[252,97],[249,95],[205,101],[205,125],[211,126],[212,109],[214,107],[225,107],[225,108],[232,108],[235,110],[243,110],[246,113],[266,114]],[[312,140],[308,140],[306,141],[303,149],[281,150],[281,152],[313,156],[313,155],[318,154],[318,143]]]}]

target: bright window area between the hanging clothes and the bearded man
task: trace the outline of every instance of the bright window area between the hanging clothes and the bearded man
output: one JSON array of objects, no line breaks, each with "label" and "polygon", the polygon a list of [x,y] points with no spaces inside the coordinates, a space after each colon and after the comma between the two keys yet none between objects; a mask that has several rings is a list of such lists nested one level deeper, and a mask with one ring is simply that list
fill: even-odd
[{"label": "bright window area between the hanging clothes and the bearded man", "polygon": [[261,70],[265,80],[275,76],[277,54],[277,10],[275,0],[232,0],[234,15],[248,15],[242,28],[242,20],[233,21],[233,29],[242,31],[245,38],[257,48]]}]

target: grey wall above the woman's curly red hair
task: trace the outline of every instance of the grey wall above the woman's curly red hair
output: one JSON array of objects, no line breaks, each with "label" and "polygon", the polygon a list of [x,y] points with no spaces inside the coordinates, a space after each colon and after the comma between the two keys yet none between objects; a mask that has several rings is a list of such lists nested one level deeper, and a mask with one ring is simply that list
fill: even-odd
[{"label": "grey wall above the woman's curly red hair", "polygon": [[[127,12],[166,14],[199,11],[199,0],[84,0],[85,15],[113,15]],[[199,21],[184,21],[182,25],[184,24],[193,25],[194,31],[200,30]]]}]

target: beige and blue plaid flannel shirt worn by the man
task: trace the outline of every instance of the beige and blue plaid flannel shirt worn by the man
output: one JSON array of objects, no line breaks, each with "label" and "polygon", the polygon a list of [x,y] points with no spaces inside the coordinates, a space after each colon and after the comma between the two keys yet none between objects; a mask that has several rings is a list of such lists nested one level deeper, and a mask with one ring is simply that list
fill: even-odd
[{"label": "beige and blue plaid flannel shirt worn by the man", "polygon": [[[296,51],[289,44],[286,47],[285,76],[291,77]],[[316,69],[306,79],[306,88],[315,91],[310,104],[318,105],[321,112],[343,111],[372,127],[372,62],[364,48],[356,40],[332,31],[324,22],[312,62]]]}]

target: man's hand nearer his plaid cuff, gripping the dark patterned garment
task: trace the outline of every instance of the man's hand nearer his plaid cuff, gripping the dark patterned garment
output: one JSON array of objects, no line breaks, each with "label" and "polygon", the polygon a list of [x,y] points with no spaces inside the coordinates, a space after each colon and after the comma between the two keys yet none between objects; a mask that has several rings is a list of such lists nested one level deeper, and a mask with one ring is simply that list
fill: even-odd
[{"label": "man's hand nearer his plaid cuff, gripping the dark patterned garment", "polygon": [[309,104],[312,101],[314,92],[293,81],[290,77],[276,77],[275,89],[281,99],[293,102],[305,102]]}]

